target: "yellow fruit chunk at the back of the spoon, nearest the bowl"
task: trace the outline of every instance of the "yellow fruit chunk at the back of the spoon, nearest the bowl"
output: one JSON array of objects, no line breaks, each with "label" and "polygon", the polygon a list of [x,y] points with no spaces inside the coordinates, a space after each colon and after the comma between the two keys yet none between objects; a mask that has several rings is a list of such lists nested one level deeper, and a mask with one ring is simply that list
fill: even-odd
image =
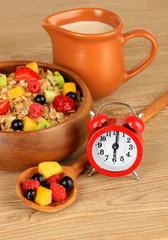
[{"label": "yellow fruit chunk at the back of the spoon, nearest the bowl", "polygon": [[61,165],[57,162],[42,162],[38,165],[38,172],[45,178],[49,178],[63,171]]}]

